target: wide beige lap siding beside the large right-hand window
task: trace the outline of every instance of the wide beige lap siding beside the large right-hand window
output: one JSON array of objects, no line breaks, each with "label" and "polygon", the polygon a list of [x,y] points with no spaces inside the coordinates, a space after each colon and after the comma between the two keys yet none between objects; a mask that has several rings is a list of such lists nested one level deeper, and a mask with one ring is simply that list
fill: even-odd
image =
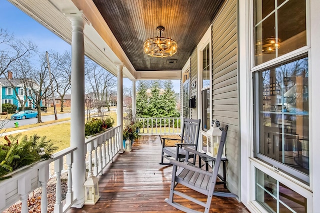
[{"label": "wide beige lap siding beside the large right-hand window", "polygon": [[226,0],[212,24],[212,117],[228,125],[227,186],[239,194],[239,112],[236,0]]}]

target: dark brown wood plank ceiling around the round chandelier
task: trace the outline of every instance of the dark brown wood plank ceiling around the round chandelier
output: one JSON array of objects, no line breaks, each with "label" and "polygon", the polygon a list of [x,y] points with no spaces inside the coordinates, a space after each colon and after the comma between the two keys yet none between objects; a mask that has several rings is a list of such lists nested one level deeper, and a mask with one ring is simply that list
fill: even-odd
[{"label": "dark brown wood plank ceiling around the round chandelier", "polygon": [[[136,71],[181,70],[209,27],[223,0],[93,0]],[[171,57],[143,52],[146,39],[162,37],[177,42]],[[168,63],[167,60],[176,60]]]}]

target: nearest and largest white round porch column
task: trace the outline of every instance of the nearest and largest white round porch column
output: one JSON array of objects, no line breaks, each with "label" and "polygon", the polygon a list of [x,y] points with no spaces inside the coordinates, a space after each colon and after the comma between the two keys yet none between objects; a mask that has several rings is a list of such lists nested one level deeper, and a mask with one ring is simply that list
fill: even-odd
[{"label": "nearest and largest white round porch column", "polygon": [[72,25],[71,40],[71,132],[70,146],[74,151],[72,166],[72,189],[75,203],[72,207],[81,208],[84,204],[84,19],[81,14],[70,17]]}]

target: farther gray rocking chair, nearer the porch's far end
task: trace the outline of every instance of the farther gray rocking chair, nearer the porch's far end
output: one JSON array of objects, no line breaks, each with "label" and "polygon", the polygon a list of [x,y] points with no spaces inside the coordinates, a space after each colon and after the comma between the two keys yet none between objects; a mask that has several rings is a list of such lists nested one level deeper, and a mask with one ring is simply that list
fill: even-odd
[{"label": "farther gray rocking chair, nearer the porch's far end", "polygon": [[[161,162],[160,164],[168,165],[169,163],[163,163],[163,158],[170,160],[174,158],[178,161],[185,158],[186,151],[182,149],[184,146],[191,147],[196,150],[198,146],[198,137],[200,130],[200,120],[187,119],[183,121],[182,133],[180,139],[161,137],[162,150],[161,150]],[[176,140],[175,146],[165,146],[165,140]],[[190,155],[189,158],[192,158]],[[195,162],[195,158],[193,158]]]}]

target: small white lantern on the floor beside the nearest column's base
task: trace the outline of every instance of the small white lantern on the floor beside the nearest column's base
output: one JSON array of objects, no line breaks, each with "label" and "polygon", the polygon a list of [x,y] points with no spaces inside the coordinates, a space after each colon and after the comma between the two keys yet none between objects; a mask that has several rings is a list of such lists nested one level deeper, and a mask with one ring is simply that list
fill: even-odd
[{"label": "small white lantern on the floor beside the nearest column's base", "polygon": [[96,177],[88,177],[84,182],[84,204],[94,205],[99,200],[99,184]]}]

